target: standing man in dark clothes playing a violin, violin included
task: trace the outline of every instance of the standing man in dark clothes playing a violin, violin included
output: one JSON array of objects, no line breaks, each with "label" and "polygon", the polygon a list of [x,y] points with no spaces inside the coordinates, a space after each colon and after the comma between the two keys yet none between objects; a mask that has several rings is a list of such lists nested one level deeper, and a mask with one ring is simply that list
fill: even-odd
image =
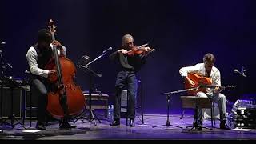
[{"label": "standing man in dark clothes playing a violin, violin included", "polygon": [[136,74],[145,64],[148,54],[153,51],[150,47],[134,46],[134,38],[130,34],[122,37],[122,46],[110,54],[110,59],[118,62],[119,72],[115,82],[114,121],[110,126],[120,125],[121,94],[125,88],[128,91],[128,118],[130,126],[134,127],[135,99],[137,95]]}]

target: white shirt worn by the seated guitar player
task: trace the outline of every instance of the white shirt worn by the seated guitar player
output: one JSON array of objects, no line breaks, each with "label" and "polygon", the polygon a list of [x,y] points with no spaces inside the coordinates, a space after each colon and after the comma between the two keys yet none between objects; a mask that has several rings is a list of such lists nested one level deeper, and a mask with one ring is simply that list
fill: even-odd
[{"label": "white shirt worn by the seated guitar player", "polygon": [[[194,66],[182,67],[179,73],[182,77],[186,77],[188,73],[195,73],[205,77],[206,67],[204,63],[198,63]],[[210,71],[210,80],[214,86],[221,86],[221,73],[215,66],[213,66]],[[213,94],[213,89],[207,88],[206,92],[211,95]]]}]

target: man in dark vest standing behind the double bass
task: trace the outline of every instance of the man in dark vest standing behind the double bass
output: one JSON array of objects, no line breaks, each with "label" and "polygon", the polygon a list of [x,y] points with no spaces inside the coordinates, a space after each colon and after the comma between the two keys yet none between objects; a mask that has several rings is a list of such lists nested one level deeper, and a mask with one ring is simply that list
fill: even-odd
[{"label": "man in dark vest standing behind the double bass", "polygon": [[58,54],[66,57],[66,48],[58,41],[52,41],[50,31],[42,29],[38,31],[38,42],[31,46],[26,53],[26,59],[30,66],[31,83],[38,91],[38,111],[36,128],[38,130],[46,130],[46,106],[47,106],[47,93],[49,84],[46,78],[50,74],[56,74],[56,70],[45,70],[46,64],[53,57],[53,46],[58,47]]}]

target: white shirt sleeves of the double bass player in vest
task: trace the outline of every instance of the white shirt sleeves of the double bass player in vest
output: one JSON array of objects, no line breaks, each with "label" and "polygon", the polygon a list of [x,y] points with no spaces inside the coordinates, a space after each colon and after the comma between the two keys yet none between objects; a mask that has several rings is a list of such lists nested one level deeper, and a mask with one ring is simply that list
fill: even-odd
[{"label": "white shirt sleeves of the double bass player in vest", "polygon": [[[50,47],[53,49],[53,45],[50,44]],[[66,47],[62,46],[63,55],[66,56]],[[58,55],[60,55],[60,50],[58,50]],[[26,53],[26,60],[30,66],[30,72],[35,75],[42,76],[44,78],[48,77],[50,70],[43,70],[38,67],[38,53],[33,46]]]}]

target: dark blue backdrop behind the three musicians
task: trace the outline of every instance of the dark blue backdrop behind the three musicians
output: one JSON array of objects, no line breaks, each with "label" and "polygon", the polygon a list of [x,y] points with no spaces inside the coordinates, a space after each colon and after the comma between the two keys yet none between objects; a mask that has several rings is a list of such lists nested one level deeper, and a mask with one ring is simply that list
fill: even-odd
[{"label": "dark blue backdrop behind the three musicians", "polygon": [[[202,62],[203,54],[215,54],[222,85],[237,89],[224,92],[234,102],[242,94],[255,94],[256,47],[255,1],[204,0],[3,0],[1,1],[0,41],[5,62],[14,68],[9,75],[23,77],[27,69],[26,50],[37,40],[38,30],[53,18],[57,38],[66,46],[74,63],[82,55],[96,58],[103,50],[121,44],[123,34],[134,35],[135,44],[150,42],[157,51],[150,55],[139,73],[143,82],[146,111],[166,111],[162,92],[182,90],[178,70]],[[246,67],[247,78],[234,74]],[[112,95],[117,73],[105,57],[92,68],[103,74],[94,78],[94,87]],[[78,85],[88,89],[88,76],[78,70]],[[175,94],[172,110],[180,110]]]}]

